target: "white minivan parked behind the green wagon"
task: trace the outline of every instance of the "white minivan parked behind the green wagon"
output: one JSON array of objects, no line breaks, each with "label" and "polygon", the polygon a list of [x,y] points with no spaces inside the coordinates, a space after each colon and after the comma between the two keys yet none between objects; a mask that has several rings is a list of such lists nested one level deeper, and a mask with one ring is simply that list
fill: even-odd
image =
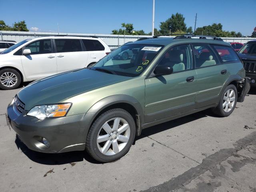
[{"label": "white minivan parked behind the green wagon", "polygon": [[0,54],[0,88],[85,68],[110,52],[100,38],[48,36],[23,40]]}]

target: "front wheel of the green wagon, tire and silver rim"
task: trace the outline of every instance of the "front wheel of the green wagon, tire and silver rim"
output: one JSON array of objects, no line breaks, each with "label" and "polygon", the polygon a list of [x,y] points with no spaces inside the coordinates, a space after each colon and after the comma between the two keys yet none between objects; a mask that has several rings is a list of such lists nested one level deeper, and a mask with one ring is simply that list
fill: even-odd
[{"label": "front wheel of the green wagon, tire and silver rim", "polygon": [[135,122],[123,109],[111,109],[92,124],[86,139],[86,150],[99,162],[111,162],[124,156],[135,138]]}]

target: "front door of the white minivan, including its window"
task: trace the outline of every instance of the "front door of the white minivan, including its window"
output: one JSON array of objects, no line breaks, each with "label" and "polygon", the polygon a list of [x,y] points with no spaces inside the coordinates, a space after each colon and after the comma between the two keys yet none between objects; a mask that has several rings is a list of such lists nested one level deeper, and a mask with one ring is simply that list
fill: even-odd
[{"label": "front door of the white minivan, including its window", "polygon": [[22,67],[27,79],[35,80],[57,73],[56,57],[52,39],[34,41],[22,48],[30,49],[31,54],[21,55]]}]

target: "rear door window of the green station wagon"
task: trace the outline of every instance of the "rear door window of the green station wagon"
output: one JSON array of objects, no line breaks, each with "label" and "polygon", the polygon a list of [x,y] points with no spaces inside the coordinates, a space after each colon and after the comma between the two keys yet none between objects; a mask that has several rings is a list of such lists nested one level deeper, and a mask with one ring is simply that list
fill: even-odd
[{"label": "rear door window of the green station wagon", "polygon": [[196,68],[216,65],[217,59],[210,46],[207,44],[193,44]]}]

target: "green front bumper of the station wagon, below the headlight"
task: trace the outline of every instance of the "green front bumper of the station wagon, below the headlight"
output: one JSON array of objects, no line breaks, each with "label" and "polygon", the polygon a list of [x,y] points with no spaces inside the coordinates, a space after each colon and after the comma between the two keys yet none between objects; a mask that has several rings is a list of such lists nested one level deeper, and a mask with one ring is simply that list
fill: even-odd
[{"label": "green front bumper of the station wagon, below the headlight", "polygon": [[[26,116],[26,111],[18,112],[14,104],[10,103],[6,119],[20,140],[31,150],[58,153],[85,149],[89,130],[85,114],[38,120]],[[50,142],[50,147],[42,143],[42,137]]]}]

